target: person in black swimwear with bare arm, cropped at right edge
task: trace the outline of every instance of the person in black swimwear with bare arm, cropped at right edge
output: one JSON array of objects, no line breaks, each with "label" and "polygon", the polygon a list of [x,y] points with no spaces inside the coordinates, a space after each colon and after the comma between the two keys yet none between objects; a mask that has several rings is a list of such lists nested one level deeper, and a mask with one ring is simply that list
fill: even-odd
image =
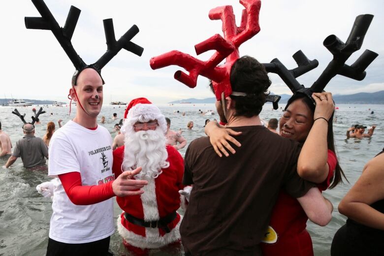
[{"label": "person in black swimwear with bare arm, cropped at right edge", "polygon": [[370,160],[339,204],[348,217],[335,234],[331,256],[384,255],[384,149]]}]

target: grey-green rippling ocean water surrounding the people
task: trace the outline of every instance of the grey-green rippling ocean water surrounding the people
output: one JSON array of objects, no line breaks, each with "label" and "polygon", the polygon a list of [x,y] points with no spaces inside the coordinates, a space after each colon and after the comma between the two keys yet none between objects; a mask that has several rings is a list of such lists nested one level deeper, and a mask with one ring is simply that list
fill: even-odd
[{"label": "grey-green rippling ocean water surrounding the people", "polygon": [[[339,214],[337,206],[343,196],[348,192],[361,174],[364,164],[379,153],[384,147],[384,105],[350,105],[339,104],[334,123],[335,143],[339,162],[350,183],[339,185],[333,190],[324,192],[324,196],[331,200],[334,206],[332,221],[325,227],[320,227],[308,222],[308,230],[312,236],[316,256],[330,255],[330,245],[335,232],[345,223],[346,217]],[[34,106],[36,109],[38,107]],[[201,115],[198,111],[215,110],[214,104],[160,104],[161,111],[171,119],[171,129],[182,128],[183,136],[188,142],[194,138],[204,136],[205,119],[218,118],[215,115]],[[112,129],[123,117],[125,106],[104,105],[99,115],[106,117],[106,123],[101,124],[115,133]],[[370,109],[370,110],[369,110]],[[13,115],[12,107],[0,107],[0,121],[2,130],[9,134],[12,144],[23,136],[22,123]],[[20,113],[26,113],[26,120],[30,122],[32,107],[18,107]],[[63,119],[64,123],[72,119],[76,108],[72,107],[69,116],[69,107],[44,107],[46,114],[40,116],[41,125],[36,126],[36,136],[42,137],[46,124]],[[176,113],[179,110],[180,113]],[[374,111],[374,114],[370,114]],[[118,114],[117,120],[112,120],[112,113]],[[181,113],[185,112],[185,116]],[[53,113],[53,115],[50,115]],[[282,110],[272,110],[271,104],[266,104],[260,116],[264,120],[280,118]],[[192,130],[187,130],[187,123],[193,121]],[[346,130],[354,124],[365,126],[377,125],[374,135],[364,139],[346,139]],[[58,128],[58,126],[57,126]],[[366,129],[367,131],[367,129]],[[188,146],[188,145],[187,145]],[[184,156],[187,147],[180,150]],[[0,165],[5,164],[0,160]],[[18,159],[11,168],[0,169],[0,256],[41,256],[45,255],[48,243],[49,221],[52,214],[51,200],[42,197],[36,192],[36,185],[48,181],[46,169],[28,171],[23,168]],[[121,213],[119,206],[114,206],[115,219]],[[284,216],[282,216],[284,218]],[[130,255],[122,245],[121,237],[116,232],[111,237],[110,249],[115,255]],[[155,250],[150,253],[153,256],[179,256],[184,255],[182,248],[173,248],[166,251]]]}]

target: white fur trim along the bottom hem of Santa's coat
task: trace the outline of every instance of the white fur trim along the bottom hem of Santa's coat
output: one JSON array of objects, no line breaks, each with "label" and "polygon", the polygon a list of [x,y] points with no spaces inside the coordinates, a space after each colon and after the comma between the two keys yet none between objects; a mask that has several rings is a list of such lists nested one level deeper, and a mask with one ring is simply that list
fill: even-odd
[{"label": "white fur trim along the bottom hem of Santa's coat", "polygon": [[[179,223],[171,230],[171,232],[164,234],[164,236],[160,236],[159,228],[146,227],[146,237],[143,237],[125,228],[123,224],[121,224],[121,216],[119,215],[117,218],[117,231],[124,240],[134,247],[141,249],[155,249],[174,243],[181,238],[179,228],[182,219],[183,216],[180,216]],[[157,235],[155,235],[156,233]]]}]

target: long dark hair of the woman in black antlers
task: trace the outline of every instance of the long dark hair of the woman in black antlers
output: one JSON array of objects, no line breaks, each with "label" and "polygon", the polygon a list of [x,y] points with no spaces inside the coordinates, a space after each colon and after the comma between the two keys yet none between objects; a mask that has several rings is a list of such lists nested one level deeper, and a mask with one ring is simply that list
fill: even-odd
[{"label": "long dark hair of the woman in black antlers", "polygon": [[[287,103],[287,106],[284,110],[287,110],[288,106],[295,100],[298,100],[300,99],[302,102],[304,102],[304,104],[306,104],[309,109],[312,111],[312,113],[315,113],[315,105],[312,101],[312,99],[310,99],[308,96],[306,96],[305,94],[301,94],[301,93],[295,93],[292,97],[290,97],[288,99],[288,103]],[[333,137],[333,115],[334,115],[335,112],[332,113],[332,116],[329,118],[329,121],[328,121],[328,131],[327,131],[327,148],[331,151],[333,151],[335,154],[336,154],[336,150],[335,150],[335,140],[334,140],[334,137]],[[313,125],[313,120],[312,120],[312,125]],[[344,177],[344,179],[348,182],[348,179],[347,177],[345,176],[344,172],[343,172],[343,169],[341,168],[341,166],[339,165],[339,160],[336,156],[336,167],[335,167],[335,174],[334,174],[334,177],[333,177],[333,180],[331,182],[331,185],[329,186],[329,189],[333,189],[335,188],[339,183],[342,183],[343,182],[343,179],[342,177]]]}]

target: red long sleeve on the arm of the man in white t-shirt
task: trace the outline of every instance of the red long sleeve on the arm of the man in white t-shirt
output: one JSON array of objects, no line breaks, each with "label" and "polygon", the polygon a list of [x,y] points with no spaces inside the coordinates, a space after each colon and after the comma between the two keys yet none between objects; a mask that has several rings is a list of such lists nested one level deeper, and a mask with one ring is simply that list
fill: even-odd
[{"label": "red long sleeve on the arm of the man in white t-shirt", "polygon": [[83,186],[80,172],[68,172],[59,175],[69,200],[76,205],[90,205],[102,202],[113,196],[112,182],[102,185]]}]

